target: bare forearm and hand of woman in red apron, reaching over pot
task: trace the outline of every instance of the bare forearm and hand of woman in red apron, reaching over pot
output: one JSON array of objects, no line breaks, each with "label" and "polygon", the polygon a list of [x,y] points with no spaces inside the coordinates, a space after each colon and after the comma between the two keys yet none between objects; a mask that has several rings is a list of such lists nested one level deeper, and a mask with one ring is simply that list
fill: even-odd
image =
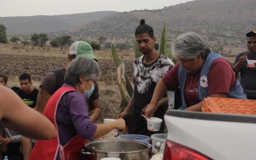
[{"label": "bare forearm and hand of woman in red apron, reaching over pot", "polygon": [[113,129],[125,130],[125,121],[123,118],[117,119],[114,122],[97,124],[96,133],[94,135],[94,139],[100,138],[105,134],[111,132]]}]

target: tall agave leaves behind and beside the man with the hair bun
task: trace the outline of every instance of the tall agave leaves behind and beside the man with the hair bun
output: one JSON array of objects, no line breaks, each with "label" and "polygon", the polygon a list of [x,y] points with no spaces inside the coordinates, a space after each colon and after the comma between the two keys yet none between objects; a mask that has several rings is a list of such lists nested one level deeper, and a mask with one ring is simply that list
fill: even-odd
[{"label": "tall agave leaves behind and beside the man with the hair bun", "polygon": [[[178,28],[174,39],[178,37],[179,31],[180,31],[180,27]],[[131,99],[131,96],[133,95],[133,87],[130,84],[130,81],[128,80],[127,75],[125,74],[124,64],[123,63],[121,64],[121,61],[117,55],[117,50],[114,45],[114,40],[111,43],[111,52],[112,52],[112,57],[114,59],[115,65],[117,67],[117,83],[122,96],[122,103],[125,106],[127,106]],[[173,61],[173,63],[175,64],[177,63],[177,60],[174,59],[171,55],[171,47],[167,48],[167,27],[165,23],[164,23],[163,31],[161,32],[161,36],[160,36],[159,52],[165,55],[166,57],[170,58]],[[143,55],[139,51],[136,38],[134,40],[134,55],[136,59]]]}]

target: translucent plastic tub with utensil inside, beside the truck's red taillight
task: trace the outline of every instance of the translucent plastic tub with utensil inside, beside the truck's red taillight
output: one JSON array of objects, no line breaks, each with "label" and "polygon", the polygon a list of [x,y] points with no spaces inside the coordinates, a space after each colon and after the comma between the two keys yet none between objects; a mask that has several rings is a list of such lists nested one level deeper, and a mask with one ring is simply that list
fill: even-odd
[{"label": "translucent plastic tub with utensil inside, beside the truck's red taillight", "polygon": [[[152,151],[155,154],[162,153],[165,149],[165,141],[167,139],[167,134],[166,133],[155,133],[151,135],[151,140],[152,140]],[[156,143],[160,142],[160,146],[156,146]]]}]

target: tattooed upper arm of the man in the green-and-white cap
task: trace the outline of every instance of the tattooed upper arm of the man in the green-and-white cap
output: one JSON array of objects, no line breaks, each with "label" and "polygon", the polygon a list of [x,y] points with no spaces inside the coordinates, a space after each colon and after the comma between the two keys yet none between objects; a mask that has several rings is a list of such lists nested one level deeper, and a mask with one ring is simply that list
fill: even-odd
[{"label": "tattooed upper arm of the man in the green-and-white cap", "polygon": [[50,97],[51,95],[48,93],[48,91],[46,91],[43,87],[40,87],[37,96],[37,106],[35,107],[35,109],[38,112],[43,113],[43,110]]}]

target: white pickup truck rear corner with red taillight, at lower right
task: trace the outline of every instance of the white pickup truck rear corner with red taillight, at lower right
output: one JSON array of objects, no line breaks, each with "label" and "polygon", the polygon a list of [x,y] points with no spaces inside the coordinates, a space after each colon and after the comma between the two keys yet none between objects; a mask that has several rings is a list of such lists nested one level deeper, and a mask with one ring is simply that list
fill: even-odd
[{"label": "white pickup truck rear corner with red taillight, at lower right", "polygon": [[168,110],[163,160],[256,160],[256,116]]}]

